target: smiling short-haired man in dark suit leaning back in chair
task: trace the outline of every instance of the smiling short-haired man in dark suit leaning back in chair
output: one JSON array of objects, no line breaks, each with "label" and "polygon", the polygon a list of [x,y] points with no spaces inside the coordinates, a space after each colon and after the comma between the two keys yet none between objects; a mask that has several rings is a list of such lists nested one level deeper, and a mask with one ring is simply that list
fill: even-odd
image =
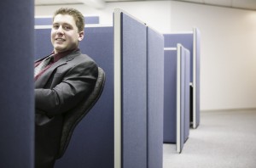
[{"label": "smiling short-haired man in dark suit leaning back in chair", "polygon": [[[89,56],[79,51],[83,38],[83,14],[74,8],[58,9],[51,30],[54,51],[35,62],[36,168],[54,167],[62,115],[79,104],[95,86],[98,69]],[[53,58],[52,62],[42,70],[49,58]]]}]

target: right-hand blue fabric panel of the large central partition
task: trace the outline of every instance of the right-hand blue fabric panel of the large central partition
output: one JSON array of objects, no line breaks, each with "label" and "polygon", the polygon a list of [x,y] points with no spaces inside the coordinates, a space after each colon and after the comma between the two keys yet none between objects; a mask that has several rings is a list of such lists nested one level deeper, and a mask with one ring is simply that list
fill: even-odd
[{"label": "right-hand blue fabric panel of the large central partition", "polygon": [[164,37],[148,28],[148,168],[163,167]]}]

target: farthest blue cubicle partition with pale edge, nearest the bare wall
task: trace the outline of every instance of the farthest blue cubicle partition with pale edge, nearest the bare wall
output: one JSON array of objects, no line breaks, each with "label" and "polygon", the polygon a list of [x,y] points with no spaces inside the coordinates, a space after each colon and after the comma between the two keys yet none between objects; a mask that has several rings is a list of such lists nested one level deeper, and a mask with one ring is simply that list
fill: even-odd
[{"label": "farthest blue cubicle partition with pale edge, nearest the bare wall", "polygon": [[191,108],[190,121],[193,128],[200,125],[200,42],[201,33],[198,28],[189,32],[164,34],[165,48],[176,48],[181,43],[190,52]]}]

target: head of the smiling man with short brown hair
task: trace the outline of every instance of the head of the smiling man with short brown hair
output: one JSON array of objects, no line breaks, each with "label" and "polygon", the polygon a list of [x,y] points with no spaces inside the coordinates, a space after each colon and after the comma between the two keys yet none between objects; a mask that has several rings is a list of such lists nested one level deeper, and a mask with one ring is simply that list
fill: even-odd
[{"label": "head of the smiling man with short brown hair", "polygon": [[84,16],[74,8],[55,11],[51,30],[51,42],[55,53],[78,48],[84,38]]}]

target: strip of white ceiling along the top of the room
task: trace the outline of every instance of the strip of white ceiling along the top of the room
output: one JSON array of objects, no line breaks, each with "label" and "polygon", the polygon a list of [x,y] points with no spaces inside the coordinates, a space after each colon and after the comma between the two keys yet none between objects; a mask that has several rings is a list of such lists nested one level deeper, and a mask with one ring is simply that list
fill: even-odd
[{"label": "strip of white ceiling along the top of the room", "polygon": [[[94,8],[104,8],[106,3],[117,2],[139,2],[153,0],[35,0],[36,6],[41,5],[61,5],[61,4],[85,4]],[[155,1],[155,0],[154,0]],[[226,8],[241,8],[256,10],[256,0],[172,0],[187,3],[199,3]]]}]

